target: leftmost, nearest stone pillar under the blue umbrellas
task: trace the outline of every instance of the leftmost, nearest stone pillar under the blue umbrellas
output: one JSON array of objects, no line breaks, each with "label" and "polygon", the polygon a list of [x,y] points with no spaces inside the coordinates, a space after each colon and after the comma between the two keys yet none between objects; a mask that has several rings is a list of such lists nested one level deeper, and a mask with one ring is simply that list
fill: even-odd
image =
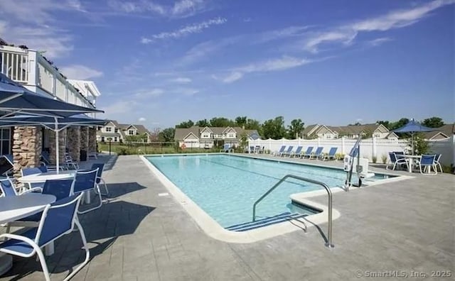
[{"label": "leftmost, nearest stone pillar under the blue umbrellas", "polygon": [[23,167],[39,167],[41,157],[41,127],[14,127],[14,177],[21,177]]}]

